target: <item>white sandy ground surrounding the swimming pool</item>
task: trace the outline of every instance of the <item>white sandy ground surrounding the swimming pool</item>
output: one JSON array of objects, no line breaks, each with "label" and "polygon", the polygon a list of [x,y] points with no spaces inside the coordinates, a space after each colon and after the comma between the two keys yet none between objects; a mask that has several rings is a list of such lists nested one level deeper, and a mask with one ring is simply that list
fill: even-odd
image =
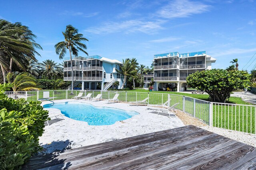
[{"label": "white sandy ground surrounding the swimming pool", "polygon": [[[67,102],[74,100],[58,100],[57,102]],[[134,115],[130,119],[118,121],[113,125],[93,126],[84,121],[77,121],[64,116],[64,120],[53,123],[44,128],[44,134],[40,137],[39,143],[44,147],[42,153],[49,153],[63,149],[71,149],[142,135],[146,133],[172,129],[184,126],[178,117],[169,115],[157,115],[146,106],[129,106],[125,103],[108,104],[106,101],[88,102],[76,100],[76,102],[89,103],[98,107],[114,107],[127,111],[137,111],[139,115]],[[43,102],[42,104],[47,104]],[[59,109],[46,109],[49,116],[60,114]]]}]

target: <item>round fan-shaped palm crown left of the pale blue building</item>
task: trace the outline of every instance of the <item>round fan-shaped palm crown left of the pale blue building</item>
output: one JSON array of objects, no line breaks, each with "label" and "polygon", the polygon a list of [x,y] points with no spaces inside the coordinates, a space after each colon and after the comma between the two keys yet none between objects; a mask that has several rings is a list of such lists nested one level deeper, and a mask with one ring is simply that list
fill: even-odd
[{"label": "round fan-shaped palm crown left of the pale blue building", "polygon": [[40,68],[42,68],[42,75],[46,76],[48,79],[56,78],[60,74],[60,65],[52,60],[46,60],[40,63]]}]

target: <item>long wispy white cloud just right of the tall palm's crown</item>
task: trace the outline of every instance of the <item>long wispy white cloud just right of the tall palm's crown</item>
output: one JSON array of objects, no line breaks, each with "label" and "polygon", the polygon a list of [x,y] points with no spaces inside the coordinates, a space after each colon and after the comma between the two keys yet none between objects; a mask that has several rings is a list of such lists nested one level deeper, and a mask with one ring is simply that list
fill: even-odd
[{"label": "long wispy white cloud just right of the tall palm's crown", "polygon": [[159,29],[163,29],[161,24],[164,20],[144,21],[144,20],[127,20],[122,22],[105,22],[100,27],[90,27],[86,32],[94,34],[102,33],[116,33],[123,31],[130,32],[143,32],[147,34],[156,33]]}]

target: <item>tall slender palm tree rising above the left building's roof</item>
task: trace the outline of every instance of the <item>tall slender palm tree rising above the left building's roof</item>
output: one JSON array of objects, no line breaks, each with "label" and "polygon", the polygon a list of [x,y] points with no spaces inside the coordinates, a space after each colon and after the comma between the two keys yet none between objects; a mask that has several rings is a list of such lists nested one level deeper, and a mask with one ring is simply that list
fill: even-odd
[{"label": "tall slender palm tree rising above the left building's roof", "polygon": [[54,47],[56,50],[56,54],[60,55],[59,58],[63,59],[66,55],[66,49],[69,51],[70,55],[70,62],[71,62],[71,76],[72,76],[72,93],[73,93],[73,86],[74,86],[74,72],[72,67],[72,55],[75,57],[78,56],[78,51],[82,51],[86,55],[88,53],[84,51],[84,49],[87,49],[86,45],[82,43],[82,41],[89,41],[88,39],[84,38],[83,34],[78,33],[78,29],[73,27],[72,25],[67,25],[65,32],[62,32],[64,35],[64,41],[57,43]]}]

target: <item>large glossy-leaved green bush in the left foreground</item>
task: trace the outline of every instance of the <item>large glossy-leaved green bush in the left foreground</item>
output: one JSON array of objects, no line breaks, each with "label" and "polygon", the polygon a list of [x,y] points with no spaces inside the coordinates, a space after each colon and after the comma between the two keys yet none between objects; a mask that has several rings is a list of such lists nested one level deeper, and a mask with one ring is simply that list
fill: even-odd
[{"label": "large glossy-leaved green bush in the left foreground", "polygon": [[41,102],[8,98],[11,84],[0,84],[0,169],[20,169],[41,147],[38,137],[44,131],[48,111]]}]

